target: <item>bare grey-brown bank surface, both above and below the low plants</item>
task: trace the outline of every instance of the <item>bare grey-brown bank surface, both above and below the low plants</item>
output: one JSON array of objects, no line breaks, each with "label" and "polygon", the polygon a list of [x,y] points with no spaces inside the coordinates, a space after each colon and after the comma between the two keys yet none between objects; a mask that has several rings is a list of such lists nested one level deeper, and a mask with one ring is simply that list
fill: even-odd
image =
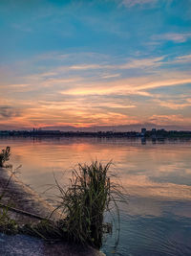
[{"label": "bare grey-brown bank surface, both above and below the low plants", "polygon": [[[21,212],[8,209],[8,215],[19,224],[33,223],[39,221],[37,218],[48,218],[53,212],[53,206],[46,200],[39,197],[29,186],[26,186],[15,176],[11,177],[11,170],[0,168],[0,195],[5,192],[1,203],[11,205],[12,208],[19,209]],[[1,208],[0,208],[1,210]],[[31,213],[33,216],[22,214],[22,211]],[[36,218],[35,218],[36,216]],[[60,217],[59,213],[53,214],[53,220]],[[103,255],[92,247],[82,247],[77,244],[56,243],[48,244],[43,240],[25,235],[4,235],[0,233],[0,255],[69,255],[82,256]]]}]

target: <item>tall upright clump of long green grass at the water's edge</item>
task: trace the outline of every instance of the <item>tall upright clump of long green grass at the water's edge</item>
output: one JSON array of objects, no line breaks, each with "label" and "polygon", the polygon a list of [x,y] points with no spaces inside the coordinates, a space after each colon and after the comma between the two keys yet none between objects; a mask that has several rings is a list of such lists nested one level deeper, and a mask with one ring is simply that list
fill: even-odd
[{"label": "tall upright clump of long green grass at the water's edge", "polygon": [[[111,182],[110,166],[111,162],[103,165],[98,161],[91,165],[78,164],[66,191],[55,180],[61,195],[58,207],[66,216],[59,225],[69,240],[100,248],[104,230],[108,230],[103,224],[104,213],[111,211],[112,202],[119,215],[117,200],[123,196],[117,184]],[[107,226],[110,227],[109,224]]]}]

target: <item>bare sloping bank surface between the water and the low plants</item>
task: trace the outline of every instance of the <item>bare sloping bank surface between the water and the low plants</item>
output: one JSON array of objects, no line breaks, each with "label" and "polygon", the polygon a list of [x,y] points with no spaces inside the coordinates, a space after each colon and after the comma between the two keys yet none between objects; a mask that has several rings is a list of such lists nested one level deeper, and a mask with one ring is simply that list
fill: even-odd
[{"label": "bare sloping bank surface between the water and the low plants", "polygon": [[[11,178],[11,179],[10,179]],[[6,187],[10,179],[9,185]],[[11,170],[0,168],[0,194],[5,190],[5,196],[1,199],[1,203],[10,203],[13,208],[18,208],[21,211],[32,213],[32,215],[40,216],[42,219],[47,219],[53,212],[53,206],[44,198],[41,198],[35,193],[32,188],[25,185],[15,175],[11,176]],[[20,221],[20,214],[11,212],[13,219]],[[53,220],[58,220],[59,214],[53,214]],[[21,222],[36,221],[35,217],[22,217]],[[32,219],[32,220],[31,220]],[[35,220],[34,220],[35,219]]]}]

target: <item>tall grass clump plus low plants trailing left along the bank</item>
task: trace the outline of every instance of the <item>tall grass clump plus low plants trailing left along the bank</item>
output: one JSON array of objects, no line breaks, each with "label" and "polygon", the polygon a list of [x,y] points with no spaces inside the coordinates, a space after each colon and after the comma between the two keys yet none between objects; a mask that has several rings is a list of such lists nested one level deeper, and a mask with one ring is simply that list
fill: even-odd
[{"label": "tall grass clump plus low plants trailing left along the bank", "polygon": [[0,231],[10,233],[12,227],[13,234],[18,232],[46,241],[68,241],[100,248],[104,233],[112,232],[112,223],[104,223],[104,214],[112,213],[115,209],[118,220],[115,226],[119,226],[117,202],[126,202],[120,185],[113,180],[115,176],[111,175],[110,167],[111,162],[105,165],[98,161],[90,165],[78,164],[72,172],[67,189],[55,178],[60,200],[53,213],[62,212],[63,218],[60,220],[53,221],[52,213],[46,220],[42,218],[37,223],[35,221],[33,224],[19,226],[11,220],[4,207],[0,211]]}]

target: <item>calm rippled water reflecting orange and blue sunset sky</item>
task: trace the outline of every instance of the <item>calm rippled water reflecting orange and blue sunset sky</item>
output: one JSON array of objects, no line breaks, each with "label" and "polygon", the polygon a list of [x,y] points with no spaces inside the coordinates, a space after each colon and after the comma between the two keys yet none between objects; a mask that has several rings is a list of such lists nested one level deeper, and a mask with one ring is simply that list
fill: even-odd
[{"label": "calm rippled water reflecting orange and blue sunset sky", "polygon": [[113,159],[129,204],[121,205],[117,251],[115,236],[108,237],[106,255],[191,255],[191,141],[0,139],[0,148],[8,145],[13,167],[22,165],[19,176],[38,193],[54,183],[53,173],[67,183],[69,172],[63,171],[78,162]]}]

